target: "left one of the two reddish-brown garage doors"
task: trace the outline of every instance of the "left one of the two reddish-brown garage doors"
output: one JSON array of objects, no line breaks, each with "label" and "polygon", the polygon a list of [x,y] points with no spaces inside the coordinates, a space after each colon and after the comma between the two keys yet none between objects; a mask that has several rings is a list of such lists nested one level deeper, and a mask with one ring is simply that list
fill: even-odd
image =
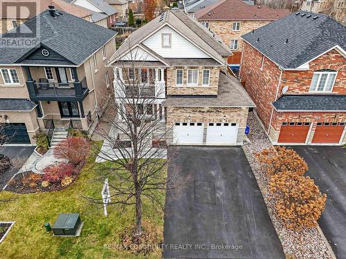
[{"label": "left one of the two reddish-brown garage doors", "polygon": [[305,143],[309,122],[282,122],[278,143]]}]

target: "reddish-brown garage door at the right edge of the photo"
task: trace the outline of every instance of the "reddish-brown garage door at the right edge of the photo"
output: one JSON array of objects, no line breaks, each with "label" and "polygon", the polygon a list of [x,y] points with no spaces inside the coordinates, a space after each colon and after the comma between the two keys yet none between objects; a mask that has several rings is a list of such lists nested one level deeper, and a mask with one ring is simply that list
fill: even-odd
[{"label": "reddish-brown garage door at the right edge of the photo", "polygon": [[339,143],[343,135],[345,122],[318,122],[312,143]]}]

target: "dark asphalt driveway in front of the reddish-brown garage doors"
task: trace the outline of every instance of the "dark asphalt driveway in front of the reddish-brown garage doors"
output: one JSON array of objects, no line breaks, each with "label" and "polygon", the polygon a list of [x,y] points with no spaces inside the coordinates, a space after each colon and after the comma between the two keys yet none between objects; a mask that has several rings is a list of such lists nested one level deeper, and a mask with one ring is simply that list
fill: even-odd
[{"label": "dark asphalt driveway in front of the reddish-brown garage doors", "polygon": [[336,258],[346,258],[346,149],[341,146],[290,146],[309,166],[309,175],[327,193],[318,224]]}]

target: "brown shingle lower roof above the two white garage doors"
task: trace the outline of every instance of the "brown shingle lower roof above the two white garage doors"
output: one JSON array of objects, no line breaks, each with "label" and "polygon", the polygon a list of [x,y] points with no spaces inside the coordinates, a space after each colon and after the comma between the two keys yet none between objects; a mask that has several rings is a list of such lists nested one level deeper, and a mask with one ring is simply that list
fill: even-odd
[{"label": "brown shingle lower roof above the two white garage doors", "polygon": [[167,97],[165,106],[188,106],[188,107],[255,107],[253,100],[250,98],[243,86],[232,75],[220,72],[219,88],[217,96],[203,97],[184,97],[176,95]]}]

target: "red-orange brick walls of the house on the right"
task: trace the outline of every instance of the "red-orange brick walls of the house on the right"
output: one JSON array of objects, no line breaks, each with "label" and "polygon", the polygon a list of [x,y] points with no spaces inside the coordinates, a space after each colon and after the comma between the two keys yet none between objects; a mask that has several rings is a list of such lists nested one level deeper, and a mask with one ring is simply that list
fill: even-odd
[{"label": "red-orange brick walls of the house on the right", "polygon": [[[273,61],[264,57],[261,70],[262,54],[251,45],[245,44],[240,76],[246,91],[255,102],[257,114],[264,123],[266,131],[273,142],[277,142],[282,122],[310,122],[311,130],[308,144],[311,143],[316,122],[346,122],[346,113],[306,113],[277,112],[272,103],[282,95],[282,88],[288,86],[286,94],[309,93],[313,72],[320,69],[338,71],[332,93],[346,94],[346,63],[338,51],[331,50],[309,63],[309,70],[280,70]],[[280,81],[280,75],[282,79]],[[272,121],[271,114],[273,113]],[[271,122],[271,126],[269,123]],[[344,139],[343,142],[346,140]]]}]

